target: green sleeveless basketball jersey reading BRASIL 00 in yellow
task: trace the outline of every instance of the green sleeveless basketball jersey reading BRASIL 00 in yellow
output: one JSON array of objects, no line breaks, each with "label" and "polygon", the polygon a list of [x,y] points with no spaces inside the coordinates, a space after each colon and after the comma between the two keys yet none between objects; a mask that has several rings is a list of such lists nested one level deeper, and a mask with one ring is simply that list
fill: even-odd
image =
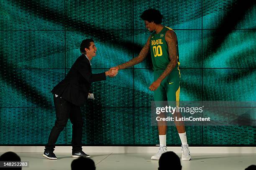
[{"label": "green sleeveless basketball jersey reading BRASIL 00 in yellow", "polygon": [[[156,31],[154,31],[151,34],[150,51],[151,51],[151,58],[153,62],[153,70],[166,69],[167,65],[171,61],[169,57],[169,52],[168,52],[168,45],[165,40],[165,34],[167,30],[172,30],[172,29],[168,27],[164,27],[158,34],[156,34]],[[177,42],[177,58],[178,58],[178,63],[173,70],[179,69],[178,42]]]}]

